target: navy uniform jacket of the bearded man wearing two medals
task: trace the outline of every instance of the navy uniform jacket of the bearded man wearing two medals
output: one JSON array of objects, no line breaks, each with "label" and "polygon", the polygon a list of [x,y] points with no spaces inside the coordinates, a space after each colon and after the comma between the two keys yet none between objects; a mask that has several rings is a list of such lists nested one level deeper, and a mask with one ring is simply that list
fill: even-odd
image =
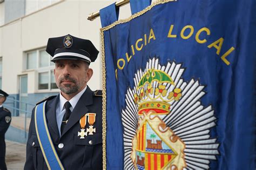
[{"label": "navy uniform jacket of the bearded man wearing two medals", "polygon": [[[56,97],[48,98],[45,115],[53,145],[62,165],[65,169],[102,169],[102,96],[91,91],[87,86],[60,137],[56,121],[58,103],[59,94]],[[78,132],[81,129],[79,120],[85,113],[96,113],[96,121],[93,124],[96,133],[85,136],[85,139],[80,139],[78,137]],[[34,116],[35,108],[31,115],[24,169],[48,169],[37,139]],[[89,128],[88,121],[86,128]],[[59,144],[63,144],[64,147],[59,148]]]}]

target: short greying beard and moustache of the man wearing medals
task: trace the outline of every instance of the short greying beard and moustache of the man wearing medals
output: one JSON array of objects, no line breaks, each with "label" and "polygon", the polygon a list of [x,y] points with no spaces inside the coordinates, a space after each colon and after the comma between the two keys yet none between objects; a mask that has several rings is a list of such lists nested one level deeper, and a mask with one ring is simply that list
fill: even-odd
[{"label": "short greying beard and moustache of the man wearing medals", "polygon": [[[68,80],[68,81],[74,83],[75,85],[61,84],[65,80]],[[81,81],[81,82],[83,82],[83,81]],[[76,79],[73,79],[69,76],[64,76],[64,77],[58,79],[57,86],[59,87],[59,90],[62,91],[63,93],[72,94],[72,93],[78,92],[78,90],[83,86],[83,83],[78,83]]]}]

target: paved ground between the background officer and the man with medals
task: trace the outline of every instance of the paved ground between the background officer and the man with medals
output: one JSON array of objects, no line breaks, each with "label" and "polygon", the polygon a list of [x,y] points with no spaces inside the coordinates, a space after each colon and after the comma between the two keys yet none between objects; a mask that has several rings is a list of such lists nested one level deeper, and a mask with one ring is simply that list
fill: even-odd
[{"label": "paved ground between the background officer and the man with medals", "polygon": [[26,160],[26,145],[5,140],[5,162],[8,170],[23,169]]}]

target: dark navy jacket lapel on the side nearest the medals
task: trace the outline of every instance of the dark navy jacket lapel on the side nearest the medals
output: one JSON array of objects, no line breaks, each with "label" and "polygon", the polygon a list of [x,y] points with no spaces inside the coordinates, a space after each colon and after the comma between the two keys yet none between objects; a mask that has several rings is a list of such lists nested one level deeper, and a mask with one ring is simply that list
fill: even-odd
[{"label": "dark navy jacket lapel on the side nearest the medals", "polygon": [[91,105],[91,104],[92,104],[92,91],[89,88],[89,86],[87,86],[87,89],[85,90],[84,94],[80,97],[74,110],[72,111],[69,121],[63,130],[62,136],[67,131],[69,131],[69,129],[73,125],[75,125],[85,113],[87,113],[89,111],[86,106]]}]

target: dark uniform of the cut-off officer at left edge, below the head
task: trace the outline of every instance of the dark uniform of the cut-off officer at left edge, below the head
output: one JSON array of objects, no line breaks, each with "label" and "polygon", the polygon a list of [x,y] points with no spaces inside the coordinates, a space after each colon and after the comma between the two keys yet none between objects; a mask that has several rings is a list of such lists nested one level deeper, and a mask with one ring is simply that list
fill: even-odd
[{"label": "dark uniform of the cut-off officer at left edge, below the head", "polygon": [[5,141],[4,134],[11,123],[11,112],[6,108],[0,107],[0,169],[5,169]]}]

